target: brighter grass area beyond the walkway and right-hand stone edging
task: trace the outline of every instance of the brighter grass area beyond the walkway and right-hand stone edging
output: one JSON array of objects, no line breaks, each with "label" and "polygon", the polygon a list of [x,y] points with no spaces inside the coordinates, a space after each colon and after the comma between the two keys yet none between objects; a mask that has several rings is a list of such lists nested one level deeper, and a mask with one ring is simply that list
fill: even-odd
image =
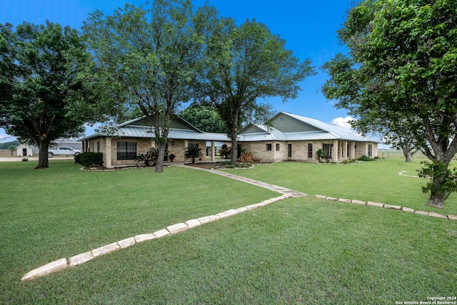
[{"label": "brighter grass area beyond the walkway and right-hand stone edging", "polygon": [[[404,158],[357,162],[354,164],[303,164],[282,162],[257,165],[254,170],[238,170],[236,175],[281,185],[308,195],[326,195],[345,199],[382,202],[414,210],[457,215],[457,194],[444,203],[443,210],[427,206],[430,193],[421,187],[429,181],[418,178],[421,160],[404,162]],[[457,167],[457,162],[451,162]],[[404,172],[404,175],[398,175]],[[409,177],[415,176],[415,177]]]}]

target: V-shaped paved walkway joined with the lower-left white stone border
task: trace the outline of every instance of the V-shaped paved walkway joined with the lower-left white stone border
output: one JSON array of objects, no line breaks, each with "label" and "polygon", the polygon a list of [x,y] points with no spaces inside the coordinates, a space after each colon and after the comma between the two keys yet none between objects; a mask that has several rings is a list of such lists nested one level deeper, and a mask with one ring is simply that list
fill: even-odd
[{"label": "V-shaped paved walkway joined with the lower-left white stone border", "polygon": [[[179,166],[183,166],[183,167],[191,168],[191,169],[195,169],[195,170],[206,170],[206,169],[203,169],[200,167],[189,167],[189,166],[185,166],[185,165],[179,165]],[[146,242],[146,240],[157,239],[157,238],[166,237],[166,236],[169,236],[172,234],[176,234],[179,232],[183,232],[183,231],[186,231],[187,229],[197,227],[201,224],[214,222],[216,220],[230,217],[230,216],[242,213],[242,212],[247,212],[247,211],[256,209],[258,207],[263,207],[265,205],[269,205],[270,203],[277,202],[279,200],[285,200],[285,199],[291,198],[291,197],[306,196],[306,194],[303,194],[302,192],[298,192],[296,190],[290,190],[286,187],[279,187],[277,185],[271,185],[271,184],[268,184],[265,182],[248,179],[245,177],[240,177],[237,175],[232,175],[228,172],[221,172],[219,170],[206,170],[206,171],[212,172],[217,175],[229,177],[231,179],[240,180],[240,181],[249,183],[251,185],[257,185],[258,187],[264,187],[269,190],[279,192],[282,195],[279,197],[274,197],[274,198],[268,199],[268,200],[263,200],[262,202],[259,202],[255,205],[239,207],[238,209],[235,209],[235,210],[231,209],[231,210],[227,210],[225,212],[221,212],[221,213],[218,213],[215,215],[200,217],[198,219],[190,219],[186,222],[182,222],[179,224],[172,224],[169,227],[166,227],[166,229],[160,229],[159,231],[156,231],[154,233],[140,234],[140,235],[136,235],[135,237],[129,237],[126,239],[122,239],[119,242],[114,242],[112,244],[107,244],[104,247],[99,247],[97,249],[93,249],[89,252],[77,254],[74,257],[70,257],[68,260],[66,258],[58,259],[54,262],[41,266],[37,269],[34,269],[31,272],[28,272],[27,274],[25,274],[22,277],[21,281],[29,281],[31,279],[36,279],[38,277],[52,274],[54,272],[59,272],[61,270],[64,270],[64,269],[67,269],[70,267],[75,267],[75,266],[78,266],[79,264],[84,264],[85,262],[89,262],[91,259],[95,259],[96,257],[101,257],[104,254],[108,254],[108,253],[117,251],[119,249],[125,249],[127,247],[131,247],[134,244],[138,244],[140,242]]]}]

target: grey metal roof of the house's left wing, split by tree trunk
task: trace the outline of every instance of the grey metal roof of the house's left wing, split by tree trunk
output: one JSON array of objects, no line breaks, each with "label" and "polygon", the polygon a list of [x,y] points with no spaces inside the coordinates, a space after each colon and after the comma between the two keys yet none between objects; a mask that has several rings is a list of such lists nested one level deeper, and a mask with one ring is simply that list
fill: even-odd
[{"label": "grey metal roof of the house's left wing, split by tree trunk", "polygon": [[[89,140],[91,138],[101,137],[117,137],[117,138],[154,138],[154,128],[149,125],[145,117],[129,120],[116,126],[112,133],[95,133],[81,140]],[[191,123],[176,115],[176,118],[171,119],[169,138],[176,140],[206,140],[206,141],[229,141],[226,135],[222,133],[204,133],[196,128]]]}]

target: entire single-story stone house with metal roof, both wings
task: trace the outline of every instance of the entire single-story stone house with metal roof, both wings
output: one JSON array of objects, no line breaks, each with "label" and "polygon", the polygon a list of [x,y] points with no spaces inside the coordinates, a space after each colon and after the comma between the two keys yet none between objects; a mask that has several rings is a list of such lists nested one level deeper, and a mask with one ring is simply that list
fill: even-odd
[{"label": "entire single-story stone house with metal roof, both wings", "polygon": [[[248,125],[239,134],[238,157],[242,150],[263,162],[318,162],[319,149],[334,162],[378,155],[378,141],[316,119],[280,112],[269,123],[273,127]],[[83,153],[103,153],[104,165],[116,167],[137,164],[137,155],[155,147],[153,137],[154,128],[143,117],[117,125],[110,133],[96,133],[79,141]],[[223,143],[231,145],[225,134],[204,133],[179,116],[171,120],[167,151],[175,155],[175,162],[186,162],[184,153],[189,145],[198,145],[203,152],[206,148],[206,155],[215,161],[216,145]]]}]

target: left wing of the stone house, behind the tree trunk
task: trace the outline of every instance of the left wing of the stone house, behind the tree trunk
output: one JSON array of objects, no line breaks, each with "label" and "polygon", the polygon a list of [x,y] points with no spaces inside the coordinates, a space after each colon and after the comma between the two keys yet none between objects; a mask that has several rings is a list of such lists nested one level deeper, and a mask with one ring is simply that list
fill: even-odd
[{"label": "left wing of the stone house, behind the tree trunk", "polygon": [[[137,155],[146,154],[149,148],[155,148],[154,128],[147,118],[137,118],[117,125],[110,133],[96,133],[79,139],[82,151],[103,153],[104,166],[116,167],[137,164]],[[216,158],[216,145],[229,143],[230,139],[221,133],[204,133],[179,116],[171,119],[168,155],[174,154],[174,162],[186,162],[184,153],[189,145],[198,145],[211,160]],[[208,143],[208,144],[207,144]],[[206,150],[207,146],[210,148]]]}]

